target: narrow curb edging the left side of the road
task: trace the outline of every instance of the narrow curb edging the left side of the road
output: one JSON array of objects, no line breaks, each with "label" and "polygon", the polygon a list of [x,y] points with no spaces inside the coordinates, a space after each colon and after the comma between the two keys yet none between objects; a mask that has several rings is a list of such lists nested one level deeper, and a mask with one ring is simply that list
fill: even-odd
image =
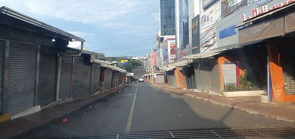
[{"label": "narrow curb edging the left side of the road", "polygon": [[[98,99],[96,99],[96,100],[93,100],[93,101],[91,101],[91,102],[89,102],[89,103],[86,103],[86,104],[84,104],[84,105],[81,105],[81,106],[79,106],[79,107],[77,107],[77,108],[75,108],[75,109],[73,109],[73,110],[71,110],[71,111],[65,112],[65,113],[63,113],[63,114],[61,114],[61,115],[59,115],[59,116],[53,117],[53,118],[51,118],[51,119],[49,119],[49,120],[47,120],[47,121],[44,121],[43,123],[41,123],[41,124],[39,124],[39,125],[33,126],[32,128],[30,128],[30,129],[28,129],[28,130],[26,130],[26,131],[22,131],[22,132],[20,132],[20,133],[18,133],[18,134],[16,134],[16,135],[12,135],[12,136],[10,136],[10,137],[8,137],[8,138],[6,138],[6,139],[20,139],[20,138],[22,138],[23,136],[26,136],[26,135],[28,135],[29,133],[32,133],[33,131],[37,131],[38,129],[40,129],[40,128],[46,126],[47,124],[49,124],[49,123],[51,123],[51,122],[57,120],[58,118],[63,118],[63,117],[65,117],[65,116],[68,116],[68,115],[70,115],[70,114],[72,114],[72,113],[74,113],[74,112],[76,112],[76,111],[78,111],[78,110],[80,110],[80,109],[82,109],[82,108],[88,106],[89,104],[92,104],[92,103],[94,103],[94,102],[96,102],[96,101],[98,101],[98,100],[101,100],[101,99],[104,99],[104,98],[106,98],[106,97],[109,97],[110,95],[112,95],[112,94],[114,94],[114,93],[117,93],[119,90],[122,90],[122,89],[128,87],[129,85],[130,85],[130,84],[128,84],[128,85],[124,85],[124,86],[121,86],[121,87],[118,87],[118,88],[113,89],[113,90],[107,90],[106,92],[111,92],[111,93],[108,94],[108,95],[105,95],[104,97],[101,97],[101,98],[98,98]],[[105,93],[105,91],[103,91],[102,93]],[[89,95],[89,96],[93,96],[93,95]],[[71,102],[73,102],[73,101],[71,101]]]}]

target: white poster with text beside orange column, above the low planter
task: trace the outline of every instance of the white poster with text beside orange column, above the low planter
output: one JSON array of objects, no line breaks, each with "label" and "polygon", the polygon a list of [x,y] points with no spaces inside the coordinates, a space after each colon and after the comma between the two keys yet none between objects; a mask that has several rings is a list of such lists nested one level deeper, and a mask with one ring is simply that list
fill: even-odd
[{"label": "white poster with text beside orange column, above the low planter", "polygon": [[234,85],[236,86],[236,64],[234,63],[225,63],[221,65],[222,74],[225,85]]}]

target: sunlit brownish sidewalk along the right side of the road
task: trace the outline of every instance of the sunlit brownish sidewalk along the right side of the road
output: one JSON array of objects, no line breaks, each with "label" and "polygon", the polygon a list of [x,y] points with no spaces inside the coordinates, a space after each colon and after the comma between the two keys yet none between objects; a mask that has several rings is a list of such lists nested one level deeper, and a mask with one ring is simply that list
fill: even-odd
[{"label": "sunlit brownish sidewalk along the right side of the road", "polygon": [[207,101],[215,105],[240,110],[246,113],[295,123],[295,103],[261,103],[260,96],[222,97],[209,93],[196,93],[191,90],[177,89],[166,84],[155,84],[161,89]]}]

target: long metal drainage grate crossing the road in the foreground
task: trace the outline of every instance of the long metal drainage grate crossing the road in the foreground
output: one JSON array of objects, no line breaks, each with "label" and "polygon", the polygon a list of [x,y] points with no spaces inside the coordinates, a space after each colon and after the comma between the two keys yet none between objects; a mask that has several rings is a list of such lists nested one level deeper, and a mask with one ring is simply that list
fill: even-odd
[{"label": "long metal drainage grate crossing the road in the foreground", "polygon": [[[295,136],[295,128],[258,128],[258,129],[224,129],[224,130],[186,130],[105,134],[85,137],[64,137],[50,139],[229,139],[245,137],[290,137]],[[40,138],[39,138],[40,139]]]}]

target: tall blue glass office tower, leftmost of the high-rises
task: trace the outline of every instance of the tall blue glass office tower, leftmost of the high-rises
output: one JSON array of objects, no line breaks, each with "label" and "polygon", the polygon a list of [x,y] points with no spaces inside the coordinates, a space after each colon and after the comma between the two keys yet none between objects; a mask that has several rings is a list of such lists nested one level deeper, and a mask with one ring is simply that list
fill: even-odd
[{"label": "tall blue glass office tower, leftmost of the high-rises", "polygon": [[175,1],[160,0],[161,36],[175,35]]}]

